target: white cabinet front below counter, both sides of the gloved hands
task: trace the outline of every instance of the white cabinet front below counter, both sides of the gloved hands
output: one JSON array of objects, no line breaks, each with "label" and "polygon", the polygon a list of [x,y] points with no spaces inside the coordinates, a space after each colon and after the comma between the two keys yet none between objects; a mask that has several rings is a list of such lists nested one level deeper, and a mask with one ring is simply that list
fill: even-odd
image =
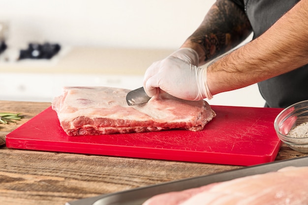
[{"label": "white cabinet front below counter, both sides of the gloved hands", "polygon": [[[142,81],[142,75],[0,73],[0,100],[52,102],[64,86],[135,89],[142,86]],[[244,107],[263,107],[265,103],[256,84],[219,93],[208,102],[211,105]]]}]

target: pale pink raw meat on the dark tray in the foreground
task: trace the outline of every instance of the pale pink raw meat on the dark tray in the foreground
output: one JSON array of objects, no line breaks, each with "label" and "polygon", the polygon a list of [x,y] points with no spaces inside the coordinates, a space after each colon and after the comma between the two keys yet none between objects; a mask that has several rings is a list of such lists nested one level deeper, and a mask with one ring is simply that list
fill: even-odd
[{"label": "pale pink raw meat on the dark tray in the foreground", "polygon": [[308,205],[308,167],[286,167],[160,194],[143,205]]}]

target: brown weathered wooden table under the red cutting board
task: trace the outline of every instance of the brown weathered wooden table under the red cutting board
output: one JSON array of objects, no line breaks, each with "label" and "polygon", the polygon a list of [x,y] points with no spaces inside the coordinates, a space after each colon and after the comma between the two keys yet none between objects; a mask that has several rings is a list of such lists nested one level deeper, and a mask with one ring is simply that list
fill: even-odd
[{"label": "brown weathered wooden table under the red cutting board", "polygon": [[[16,124],[0,124],[0,144],[4,143],[6,134],[50,105],[0,101],[0,112],[25,116]],[[307,155],[283,145],[276,160]],[[17,150],[2,145],[0,204],[64,205],[82,198],[238,168],[240,166]]]}]

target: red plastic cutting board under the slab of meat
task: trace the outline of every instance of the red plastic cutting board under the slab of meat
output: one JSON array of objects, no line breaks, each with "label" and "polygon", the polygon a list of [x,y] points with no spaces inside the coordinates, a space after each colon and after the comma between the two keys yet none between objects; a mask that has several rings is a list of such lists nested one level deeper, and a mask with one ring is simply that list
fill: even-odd
[{"label": "red plastic cutting board under the slab of meat", "polygon": [[9,148],[228,165],[274,161],[281,142],[274,119],[282,109],[211,106],[217,116],[202,131],[67,136],[47,108],[6,136]]}]

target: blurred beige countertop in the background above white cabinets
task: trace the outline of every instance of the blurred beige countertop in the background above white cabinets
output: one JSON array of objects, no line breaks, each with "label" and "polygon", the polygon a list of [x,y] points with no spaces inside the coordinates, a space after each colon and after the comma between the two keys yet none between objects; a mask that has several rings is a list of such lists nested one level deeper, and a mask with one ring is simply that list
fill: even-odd
[{"label": "blurred beige countertop in the background above white cabinets", "polygon": [[143,75],[172,50],[100,47],[63,47],[50,60],[0,60],[0,72]]}]

